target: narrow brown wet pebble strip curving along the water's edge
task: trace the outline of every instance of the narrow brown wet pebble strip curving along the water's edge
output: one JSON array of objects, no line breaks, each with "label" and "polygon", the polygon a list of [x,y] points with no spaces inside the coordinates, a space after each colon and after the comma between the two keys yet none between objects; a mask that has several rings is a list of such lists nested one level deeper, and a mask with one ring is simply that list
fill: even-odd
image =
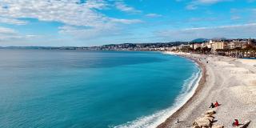
[{"label": "narrow brown wet pebble strip curving along the water's edge", "polygon": [[204,86],[204,83],[206,82],[206,67],[204,66],[204,64],[202,62],[199,62],[197,59],[195,58],[191,58],[189,56],[186,56],[186,54],[174,54],[174,53],[164,53],[164,54],[170,54],[170,55],[178,55],[179,57],[182,57],[182,58],[188,58],[190,59],[191,61],[195,62],[196,64],[198,64],[198,67],[201,69],[201,78],[199,78],[199,82],[196,83],[198,84],[198,86],[195,86],[196,89],[194,90],[194,94],[186,100],[186,103],[183,104],[182,106],[180,106],[178,108],[178,110],[176,110],[173,114],[170,115],[169,118],[166,118],[166,121],[165,122],[162,122],[161,124],[159,124],[157,126],[157,128],[165,128],[165,127],[168,127],[169,126],[169,123],[171,120],[174,121],[174,120],[177,120],[178,119],[178,114],[182,114],[182,110],[188,106],[190,106],[190,102],[192,98],[194,98],[194,96],[196,94],[198,94],[198,91],[202,89],[202,87]]}]

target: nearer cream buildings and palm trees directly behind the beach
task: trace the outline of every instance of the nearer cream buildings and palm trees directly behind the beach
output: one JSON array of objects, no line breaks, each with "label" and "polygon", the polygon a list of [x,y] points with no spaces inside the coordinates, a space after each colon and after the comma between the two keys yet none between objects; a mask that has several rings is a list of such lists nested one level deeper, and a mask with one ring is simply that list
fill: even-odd
[{"label": "nearer cream buildings and palm trees directly behind the beach", "polygon": [[173,46],[171,51],[193,52],[197,54],[217,54],[234,58],[255,58],[256,42],[254,39],[219,39],[202,43]]}]

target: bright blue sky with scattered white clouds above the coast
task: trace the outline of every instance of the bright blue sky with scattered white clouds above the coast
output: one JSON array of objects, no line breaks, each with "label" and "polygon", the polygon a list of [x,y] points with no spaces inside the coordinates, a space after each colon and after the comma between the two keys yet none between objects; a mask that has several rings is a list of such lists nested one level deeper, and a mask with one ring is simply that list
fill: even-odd
[{"label": "bright blue sky with scattered white clouds above the coast", "polygon": [[0,0],[0,46],[256,38],[256,0]]}]

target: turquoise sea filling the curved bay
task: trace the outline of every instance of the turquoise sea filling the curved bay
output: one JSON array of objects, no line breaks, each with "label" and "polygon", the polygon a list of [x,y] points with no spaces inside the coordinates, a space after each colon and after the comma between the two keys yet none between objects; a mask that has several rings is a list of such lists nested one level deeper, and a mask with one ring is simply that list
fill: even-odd
[{"label": "turquoise sea filling the curved bay", "polygon": [[157,52],[0,50],[0,127],[146,127],[198,71]]}]

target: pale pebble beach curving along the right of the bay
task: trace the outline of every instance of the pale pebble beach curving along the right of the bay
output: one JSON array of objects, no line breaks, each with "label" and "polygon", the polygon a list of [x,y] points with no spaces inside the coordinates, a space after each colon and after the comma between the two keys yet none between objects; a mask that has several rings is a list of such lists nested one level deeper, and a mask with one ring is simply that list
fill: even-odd
[{"label": "pale pebble beach curving along the right of the bay", "polygon": [[[167,53],[174,54],[174,53]],[[232,127],[250,120],[256,127],[256,60],[205,54],[178,54],[193,59],[202,68],[202,78],[192,98],[158,128],[192,127],[207,110],[215,110],[214,125]],[[210,109],[210,103],[220,106]],[[177,122],[179,120],[179,123]]]}]

